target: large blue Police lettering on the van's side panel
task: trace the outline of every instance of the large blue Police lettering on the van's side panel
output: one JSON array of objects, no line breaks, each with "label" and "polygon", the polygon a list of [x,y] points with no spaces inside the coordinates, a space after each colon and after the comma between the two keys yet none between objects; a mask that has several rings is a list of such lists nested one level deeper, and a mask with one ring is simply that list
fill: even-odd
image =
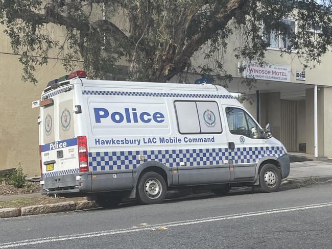
[{"label": "large blue Police lettering on the van's side panel", "polygon": [[127,123],[138,123],[138,120],[144,123],[150,123],[152,120],[156,123],[162,123],[165,120],[165,116],[161,112],[155,112],[152,115],[149,112],[137,113],[136,108],[125,108],[125,114],[121,112],[112,112],[109,114],[108,110],[105,108],[93,108],[94,119],[96,123],[100,123],[102,118],[107,118],[110,116],[114,123],[122,123],[126,120]]}]

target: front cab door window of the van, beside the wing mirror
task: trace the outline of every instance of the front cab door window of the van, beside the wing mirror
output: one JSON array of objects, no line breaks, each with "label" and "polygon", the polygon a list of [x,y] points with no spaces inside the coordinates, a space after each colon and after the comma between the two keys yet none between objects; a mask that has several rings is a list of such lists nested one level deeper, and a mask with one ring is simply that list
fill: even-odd
[{"label": "front cab door window of the van, beside the wing mirror", "polygon": [[259,127],[244,110],[240,108],[227,107],[226,116],[231,134],[259,138]]}]

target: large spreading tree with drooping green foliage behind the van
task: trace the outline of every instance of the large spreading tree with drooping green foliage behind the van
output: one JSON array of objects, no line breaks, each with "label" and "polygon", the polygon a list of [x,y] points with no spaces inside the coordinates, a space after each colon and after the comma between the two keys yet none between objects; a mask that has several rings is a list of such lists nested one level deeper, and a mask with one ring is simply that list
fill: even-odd
[{"label": "large spreading tree with drooping green foliage behind the van", "polygon": [[[242,43],[234,56],[264,62],[266,37],[290,41],[280,53],[297,51],[305,65],[319,63],[332,43],[332,0],[2,0],[0,20],[20,54],[23,80],[36,83],[37,66],[48,63],[50,49],[58,49],[66,70],[83,59],[92,78],[115,73],[120,58],[128,61],[128,79],[165,82],[183,71],[193,71],[192,56],[208,42],[205,58],[213,67],[200,73],[221,79],[222,56],[229,37],[241,30]],[[105,10],[105,18],[93,18]],[[113,14],[115,13],[115,14]],[[114,15],[124,22],[117,25]],[[102,15],[101,15],[102,16]],[[297,32],[284,21],[292,17]],[[64,26],[64,43],[54,40],[45,26]],[[313,32],[312,27],[319,27]]]}]

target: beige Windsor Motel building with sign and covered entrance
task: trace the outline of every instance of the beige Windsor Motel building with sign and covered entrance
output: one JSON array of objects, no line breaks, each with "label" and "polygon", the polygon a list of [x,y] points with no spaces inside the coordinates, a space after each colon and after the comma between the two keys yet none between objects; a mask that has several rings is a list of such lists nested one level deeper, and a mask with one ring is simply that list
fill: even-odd
[{"label": "beige Windsor Motel building with sign and covered entrance", "polygon": [[[266,64],[259,65],[236,60],[233,49],[240,41],[236,35],[230,40],[223,63],[233,79],[227,83],[226,89],[245,95],[245,108],[260,126],[270,123],[272,135],[286,146],[290,154],[332,158],[331,51],[324,55],[321,63],[313,63],[304,69],[302,59],[295,51],[280,56],[280,49],[289,44],[279,36],[279,39],[270,40]],[[202,53],[197,53],[192,63],[195,67],[202,67],[207,62]],[[240,67],[245,68],[242,73],[239,73]],[[195,74],[189,77],[189,81],[200,77]],[[243,83],[246,77],[254,78],[255,82],[247,86]]]}]

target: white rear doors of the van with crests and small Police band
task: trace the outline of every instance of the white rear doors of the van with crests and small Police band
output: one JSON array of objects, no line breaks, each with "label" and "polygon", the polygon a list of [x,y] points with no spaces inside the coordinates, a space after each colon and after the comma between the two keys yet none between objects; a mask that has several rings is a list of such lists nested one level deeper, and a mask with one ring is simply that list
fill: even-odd
[{"label": "white rear doors of the van with crests and small Police band", "polygon": [[77,185],[79,172],[78,146],[75,137],[73,86],[51,93],[54,105],[42,107],[43,142],[41,160],[44,189]]}]

